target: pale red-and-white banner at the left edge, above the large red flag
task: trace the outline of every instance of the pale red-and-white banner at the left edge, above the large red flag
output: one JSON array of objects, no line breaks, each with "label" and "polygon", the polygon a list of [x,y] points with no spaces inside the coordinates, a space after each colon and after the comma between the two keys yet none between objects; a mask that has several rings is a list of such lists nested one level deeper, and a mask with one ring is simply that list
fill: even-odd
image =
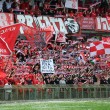
[{"label": "pale red-and-white banner at the left edge, above the large red flag", "polygon": [[13,25],[14,16],[11,13],[0,13],[0,28]]}]

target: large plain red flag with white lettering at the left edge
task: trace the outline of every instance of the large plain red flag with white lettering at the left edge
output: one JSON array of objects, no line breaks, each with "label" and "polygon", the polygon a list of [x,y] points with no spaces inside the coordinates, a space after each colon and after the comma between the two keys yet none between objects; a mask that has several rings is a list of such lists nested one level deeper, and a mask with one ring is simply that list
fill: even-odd
[{"label": "large plain red flag with white lettering at the left edge", "polygon": [[0,54],[11,55],[16,38],[19,34],[20,24],[7,26],[0,29]]}]

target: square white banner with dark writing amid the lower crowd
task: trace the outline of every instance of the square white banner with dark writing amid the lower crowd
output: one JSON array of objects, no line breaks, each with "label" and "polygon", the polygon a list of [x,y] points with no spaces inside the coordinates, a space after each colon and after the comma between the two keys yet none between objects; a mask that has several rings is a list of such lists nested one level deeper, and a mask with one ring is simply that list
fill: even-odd
[{"label": "square white banner with dark writing amid the lower crowd", "polygon": [[54,73],[54,63],[53,59],[44,60],[40,59],[40,69],[41,73]]}]

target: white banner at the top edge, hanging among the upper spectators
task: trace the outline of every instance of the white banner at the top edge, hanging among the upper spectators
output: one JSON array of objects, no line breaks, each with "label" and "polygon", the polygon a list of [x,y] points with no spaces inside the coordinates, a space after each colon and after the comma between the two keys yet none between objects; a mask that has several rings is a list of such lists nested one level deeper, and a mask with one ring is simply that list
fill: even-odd
[{"label": "white banner at the top edge, hanging among the upper spectators", "polygon": [[66,8],[78,9],[78,0],[66,0]]}]

